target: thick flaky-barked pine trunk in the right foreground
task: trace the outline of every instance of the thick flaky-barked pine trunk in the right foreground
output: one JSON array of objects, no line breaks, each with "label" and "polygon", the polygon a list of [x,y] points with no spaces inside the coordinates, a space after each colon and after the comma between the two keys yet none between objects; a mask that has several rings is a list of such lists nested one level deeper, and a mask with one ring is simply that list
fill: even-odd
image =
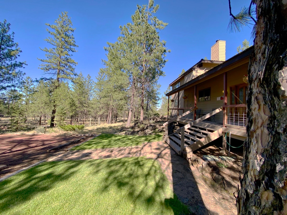
[{"label": "thick flaky-barked pine trunk in the right foreground", "polygon": [[287,1],[256,1],[238,214],[287,214]]}]

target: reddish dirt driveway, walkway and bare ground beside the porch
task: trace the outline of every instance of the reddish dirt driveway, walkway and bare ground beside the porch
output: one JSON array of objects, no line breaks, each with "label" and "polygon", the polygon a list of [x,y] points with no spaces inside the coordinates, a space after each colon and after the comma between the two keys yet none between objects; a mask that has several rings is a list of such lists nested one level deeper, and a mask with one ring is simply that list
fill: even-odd
[{"label": "reddish dirt driveway, walkway and bare ground beside the porch", "polygon": [[[1,134],[0,165],[8,165],[9,168],[0,171],[0,177],[43,159],[62,161],[146,156],[161,164],[174,193],[189,207],[191,214],[237,214],[232,191],[239,183],[238,173],[241,171],[240,159],[242,157],[238,155],[234,155],[238,156],[236,162],[228,163],[228,168],[219,168],[215,163],[208,163],[211,173],[216,172],[224,177],[223,182],[217,184],[211,177],[205,177],[194,163],[187,162],[177,155],[165,142],[145,143],[142,146],[127,148],[66,152],[67,148],[79,144],[74,143],[49,153],[46,152],[50,148],[77,138],[79,137],[51,134]],[[84,141],[86,140],[82,140]],[[198,159],[201,159],[202,155],[221,155],[218,154],[218,150],[214,146],[209,146],[195,155]]]}]

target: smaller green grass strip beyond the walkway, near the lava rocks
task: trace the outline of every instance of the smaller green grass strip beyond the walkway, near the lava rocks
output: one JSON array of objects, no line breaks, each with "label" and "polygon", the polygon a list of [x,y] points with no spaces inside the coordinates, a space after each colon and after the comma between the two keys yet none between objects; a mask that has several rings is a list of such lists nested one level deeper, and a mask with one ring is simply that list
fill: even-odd
[{"label": "smaller green grass strip beyond the walkway, near the lava rocks", "polygon": [[155,142],[161,140],[162,134],[153,134],[147,136],[100,134],[99,136],[96,136],[95,138],[88,140],[79,146],[75,146],[71,150],[140,146],[144,142]]}]

